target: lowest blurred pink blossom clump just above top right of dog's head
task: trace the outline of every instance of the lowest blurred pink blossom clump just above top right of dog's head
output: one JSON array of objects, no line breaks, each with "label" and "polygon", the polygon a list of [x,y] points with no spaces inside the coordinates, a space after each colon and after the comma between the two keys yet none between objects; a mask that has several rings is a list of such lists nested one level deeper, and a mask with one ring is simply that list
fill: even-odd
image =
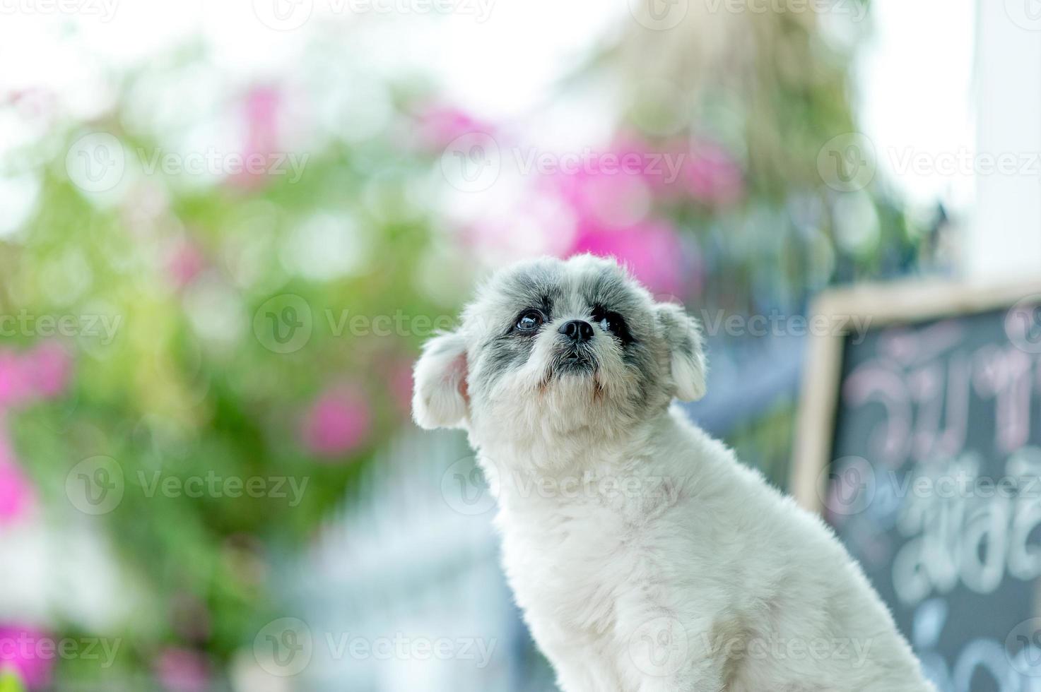
[{"label": "lowest blurred pink blossom clump just above top right of dog's head", "polygon": [[652,221],[620,229],[588,227],[580,231],[569,254],[584,252],[614,257],[653,293],[682,296],[686,288],[683,245],[667,222]]}]

